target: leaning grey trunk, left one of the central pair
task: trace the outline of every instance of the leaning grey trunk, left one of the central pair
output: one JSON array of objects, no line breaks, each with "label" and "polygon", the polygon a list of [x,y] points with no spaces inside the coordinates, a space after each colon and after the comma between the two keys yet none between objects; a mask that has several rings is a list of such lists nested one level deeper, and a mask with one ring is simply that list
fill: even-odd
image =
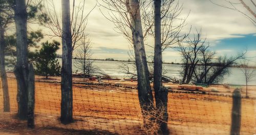
[{"label": "leaning grey trunk, left one of the central pair", "polygon": [[131,16],[131,30],[133,35],[134,52],[136,69],[138,74],[138,96],[142,115],[150,113],[154,107],[153,94],[150,86],[150,78],[148,76],[148,68],[146,61],[146,54],[143,41],[143,33],[140,17],[140,6],[138,0],[129,0],[127,2],[128,11]]}]

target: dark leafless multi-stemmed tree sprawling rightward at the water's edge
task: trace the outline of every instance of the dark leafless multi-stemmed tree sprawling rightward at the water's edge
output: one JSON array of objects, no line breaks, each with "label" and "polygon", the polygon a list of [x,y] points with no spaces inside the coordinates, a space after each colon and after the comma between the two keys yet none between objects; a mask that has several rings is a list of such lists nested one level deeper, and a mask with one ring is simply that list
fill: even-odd
[{"label": "dark leafless multi-stemmed tree sprawling rightward at the water's edge", "polygon": [[237,56],[216,56],[216,52],[209,50],[209,43],[202,38],[201,30],[193,38],[187,37],[185,42],[179,42],[176,48],[182,56],[182,83],[191,81],[196,83],[211,84],[219,81],[229,73],[229,67],[237,64],[240,59],[245,59],[245,52]]}]

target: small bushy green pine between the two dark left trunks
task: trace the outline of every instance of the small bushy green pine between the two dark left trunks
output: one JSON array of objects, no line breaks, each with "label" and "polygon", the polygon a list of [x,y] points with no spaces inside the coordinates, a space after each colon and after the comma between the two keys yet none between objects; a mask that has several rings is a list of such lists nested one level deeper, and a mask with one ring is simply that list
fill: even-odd
[{"label": "small bushy green pine between the two dark left trunks", "polygon": [[52,43],[42,42],[42,48],[39,52],[34,53],[33,60],[35,61],[36,74],[43,75],[48,79],[48,76],[59,75],[60,65],[56,51],[59,49],[60,43],[53,41]]}]

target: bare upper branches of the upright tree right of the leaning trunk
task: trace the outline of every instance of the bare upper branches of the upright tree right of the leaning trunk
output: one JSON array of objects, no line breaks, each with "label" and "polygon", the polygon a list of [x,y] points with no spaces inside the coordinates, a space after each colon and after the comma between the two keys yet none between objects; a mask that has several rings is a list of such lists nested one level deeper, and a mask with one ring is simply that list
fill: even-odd
[{"label": "bare upper branches of the upright tree right of the leaning trunk", "polygon": [[[151,5],[142,6],[143,25],[145,26],[145,35],[153,36],[155,38],[155,21],[154,10],[148,10]],[[188,34],[183,33],[183,27],[186,25],[185,21],[189,13],[185,17],[181,17],[183,5],[179,1],[161,1],[161,46],[162,51],[171,48],[174,44],[184,40]],[[152,44],[146,44],[152,46]]]}]

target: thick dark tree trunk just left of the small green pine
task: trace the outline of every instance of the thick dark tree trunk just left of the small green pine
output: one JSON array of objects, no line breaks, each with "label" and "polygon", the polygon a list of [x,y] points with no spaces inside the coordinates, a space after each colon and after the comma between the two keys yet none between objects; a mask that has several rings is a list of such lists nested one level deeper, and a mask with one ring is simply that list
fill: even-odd
[{"label": "thick dark tree trunk just left of the small green pine", "polygon": [[28,36],[27,36],[27,10],[25,0],[15,1],[15,25],[17,35],[17,62],[15,76],[17,80],[18,118],[27,119],[28,110]]}]

